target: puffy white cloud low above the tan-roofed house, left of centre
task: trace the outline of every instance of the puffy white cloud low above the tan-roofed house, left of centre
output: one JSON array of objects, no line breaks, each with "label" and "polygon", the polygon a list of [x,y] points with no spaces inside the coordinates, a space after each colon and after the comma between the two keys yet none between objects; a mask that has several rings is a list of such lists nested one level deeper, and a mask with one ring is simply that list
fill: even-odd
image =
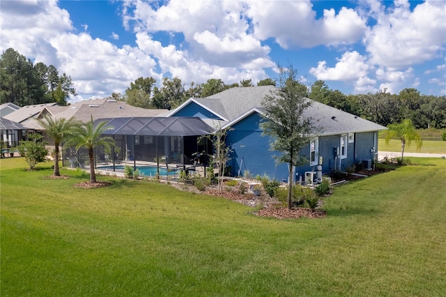
[{"label": "puffy white cloud low above the tan-roofed house, left of centre", "polygon": [[110,89],[122,92],[137,77],[159,77],[153,72],[155,61],[134,47],[118,48],[87,33],[65,33],[51,43],[61,62],[59,72],[68,73],[77,92],[86,96],[110,96]]}]

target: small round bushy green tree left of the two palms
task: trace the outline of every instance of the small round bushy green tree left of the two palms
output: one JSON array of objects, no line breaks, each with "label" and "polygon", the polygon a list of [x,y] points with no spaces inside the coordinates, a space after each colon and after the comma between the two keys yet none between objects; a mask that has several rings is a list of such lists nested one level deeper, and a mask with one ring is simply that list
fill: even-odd
[{"label": "small round bushy green tree left of the two palms", "polygon": [[17,146],[17,151],[25,158],[29,165],[29,170],[34,170],[37,163],[44,162],[48,155],[48,148],[45,147],[47,142],[41,141],[42,135],[28,135],[30,140],[21,140]]}]

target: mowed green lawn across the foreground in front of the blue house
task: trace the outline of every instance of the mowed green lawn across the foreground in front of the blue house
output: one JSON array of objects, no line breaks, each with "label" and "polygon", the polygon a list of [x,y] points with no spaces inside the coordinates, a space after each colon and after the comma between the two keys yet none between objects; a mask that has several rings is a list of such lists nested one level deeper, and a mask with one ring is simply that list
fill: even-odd
[{"label": "mowed green lawn across the foreground in front of the blue house", "polygon": [[446,160],[338,186],[278,220],[169,185],[0,161],[1,296],[446,296]]}]

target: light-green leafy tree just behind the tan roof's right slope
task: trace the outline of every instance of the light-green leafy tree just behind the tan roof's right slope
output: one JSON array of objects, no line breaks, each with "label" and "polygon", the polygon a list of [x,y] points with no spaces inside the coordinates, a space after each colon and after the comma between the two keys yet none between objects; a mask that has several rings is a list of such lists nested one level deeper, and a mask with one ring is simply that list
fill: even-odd
[{"label": "light-green leafy tree just behind the tan roof's right slope", "polygon": [[125,101],[133,106],[142,108],[152,108],[152,92],[156,79],[153,77],[139,77],[130,83],[130,87],[125,90]]}]

